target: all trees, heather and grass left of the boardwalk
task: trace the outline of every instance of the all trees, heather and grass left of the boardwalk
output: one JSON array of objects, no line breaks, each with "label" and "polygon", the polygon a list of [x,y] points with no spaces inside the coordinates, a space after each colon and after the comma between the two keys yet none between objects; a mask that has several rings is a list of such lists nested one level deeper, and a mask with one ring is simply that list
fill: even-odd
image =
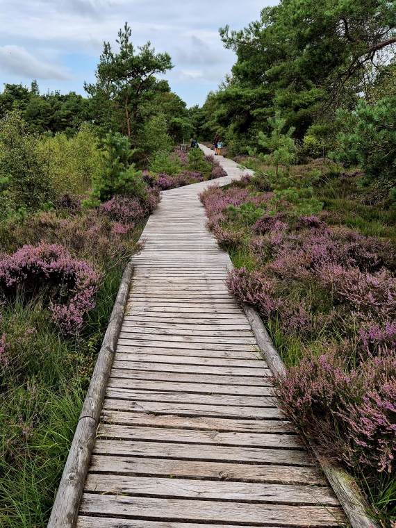
[{"label": "all trees, heather and grass left of the boardwalk", "polygon": [[[40,95],[34,81],[0,94],[4,527],[47,525],[124,265],[164,188],[143,171],[157,160],[162,172],[191,133],[185,104],[154,75],[169,69],[169,56],[149,44],[135,54],[129,36],[126,26],[119,53],[105,44],[88,99]],[[125,65],[135,72],[127,79]],[[177,185],[215,177],[214,162],[195,160],[204,175],[178,163],[169,175]]]}]

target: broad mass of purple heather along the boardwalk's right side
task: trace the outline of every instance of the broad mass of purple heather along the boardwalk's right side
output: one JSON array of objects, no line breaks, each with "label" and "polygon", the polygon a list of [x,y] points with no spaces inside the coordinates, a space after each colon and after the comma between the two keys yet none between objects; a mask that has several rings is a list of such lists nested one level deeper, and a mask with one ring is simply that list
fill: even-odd
[{"label": "broad mass of purple heather along the boardwalk's right side", "polygon": [[[249,263],[229,274],[229,292],[256,307],[288,363],[277,380],[281,408],[366,477],[394,472],[395,247],[339,225],[338,211],[268,214],[268,193],[254,190],[254,179],[214,186],[201,201],[220,244]],[[252,200],[263,213],[249,224],[235,211]]]}]

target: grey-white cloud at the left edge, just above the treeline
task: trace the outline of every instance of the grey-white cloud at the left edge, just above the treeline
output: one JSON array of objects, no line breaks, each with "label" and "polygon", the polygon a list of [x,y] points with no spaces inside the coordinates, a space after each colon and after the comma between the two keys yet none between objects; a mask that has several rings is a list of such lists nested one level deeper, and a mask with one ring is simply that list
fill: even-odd
[{"label": "grey-white cloud at the left edge, just above the treeline", "polygon": [[56,66],[40,63],[21,46],[0,47],[0,69],[27,79],[58,79],[59,81],[71,79]]}]

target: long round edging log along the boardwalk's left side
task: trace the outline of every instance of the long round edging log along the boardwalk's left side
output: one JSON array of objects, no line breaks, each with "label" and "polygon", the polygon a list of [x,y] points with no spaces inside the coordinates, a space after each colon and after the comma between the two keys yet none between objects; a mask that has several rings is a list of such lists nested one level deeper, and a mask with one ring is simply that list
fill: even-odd
[{"label": "long round edging log along the boardwalk's left side", "polygon": [[122,276],[69,456],[67,456],[48,528],[74,528],[76,524],[132,275],[133,265],[129,262]]}]

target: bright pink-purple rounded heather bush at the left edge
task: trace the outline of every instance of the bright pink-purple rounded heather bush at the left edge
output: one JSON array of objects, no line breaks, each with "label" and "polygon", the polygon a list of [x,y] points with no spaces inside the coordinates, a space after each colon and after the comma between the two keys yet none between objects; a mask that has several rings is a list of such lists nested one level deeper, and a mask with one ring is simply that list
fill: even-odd
[{"label": "bright pink-purple rounded heather bush at the left edge", "polygon": [[101,274],[84,261],[72,258],[59,245],[44,242],[24,246],[0,260],[0,290],[4,298],[22,292],[31,299],[44,292],[44,299],[65,334],[76,334],[83,316],[94,308],[94,297]]}]

